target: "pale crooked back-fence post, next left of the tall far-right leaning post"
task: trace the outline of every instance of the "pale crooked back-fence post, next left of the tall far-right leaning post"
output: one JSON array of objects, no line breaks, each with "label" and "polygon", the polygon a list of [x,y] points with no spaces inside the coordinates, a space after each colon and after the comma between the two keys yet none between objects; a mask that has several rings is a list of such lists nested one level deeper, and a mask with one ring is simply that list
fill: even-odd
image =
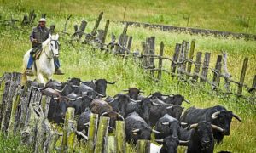
[{"label": "pale crooked back-fence post, next left of the tall far-right leaning post", "polygon": [[224,70],[224,80],[225,80],[225,84],[224,84],[224,88],[227,90],[227,92],[230,92],[230,73],[228,71],[228,54],[227,53],[223,53],[223,70]]}]

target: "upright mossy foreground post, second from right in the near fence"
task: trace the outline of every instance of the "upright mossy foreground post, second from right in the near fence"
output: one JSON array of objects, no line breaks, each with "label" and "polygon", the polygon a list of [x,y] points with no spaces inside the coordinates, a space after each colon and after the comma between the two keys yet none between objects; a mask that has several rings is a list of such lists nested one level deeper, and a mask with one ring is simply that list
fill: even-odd
[{"label": "upright mossy foreground post, second from right in the near fence", "polygon": [[126,143],[125,143],[125,122],[124,121],[116,121],[116,144],[117,144],[117,152],[125,153],[126,152]]}]

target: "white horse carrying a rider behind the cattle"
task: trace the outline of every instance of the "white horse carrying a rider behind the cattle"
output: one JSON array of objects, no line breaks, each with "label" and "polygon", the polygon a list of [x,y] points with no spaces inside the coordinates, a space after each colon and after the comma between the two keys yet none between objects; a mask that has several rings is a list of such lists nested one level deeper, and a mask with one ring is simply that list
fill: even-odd
[{"label": "white horse carrying a rider behind the cattle", "polygon": [[[59,39],[58,34],[52,35],[52,36],[49,35],[49,38],[42,43],[43,50],[39,59],[35,59],[32,65],[33,75],[38,78],[38,82],[44,83],[44,85],[45,85],[44,78],[46,78],[46,80],[49,81],[53,76],[53,74],[55,73],[54,58],[59,56],[59,48],[60,48],[58,39]],[[26,82],[27,80],[26,65],[28,63],[31,50],[32,49],[28,50],[23,58],[23,66],[24,66],[24,71],[22,75],[23,83]]]}]

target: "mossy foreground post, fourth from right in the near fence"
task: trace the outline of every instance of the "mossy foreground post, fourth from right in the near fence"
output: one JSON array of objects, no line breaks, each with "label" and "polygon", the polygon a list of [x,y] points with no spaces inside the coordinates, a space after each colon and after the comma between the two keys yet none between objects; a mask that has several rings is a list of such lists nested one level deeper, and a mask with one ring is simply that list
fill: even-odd
[{"label": "mossy foreground post, fourth from right in the near fence", "polygon": [[89,126],[89,129],[88,129],[88,148],[89,148],[89,152],[94,151],[97,129],[98,129],[98,115],[92,113],[90,115],[90,126]]}]

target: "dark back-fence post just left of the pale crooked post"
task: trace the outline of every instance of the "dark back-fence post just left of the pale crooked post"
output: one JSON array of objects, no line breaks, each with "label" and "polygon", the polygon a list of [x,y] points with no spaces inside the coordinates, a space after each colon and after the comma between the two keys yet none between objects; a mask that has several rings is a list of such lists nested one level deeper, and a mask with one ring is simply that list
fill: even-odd
[{"label": "dark back-fence post just left of the pale crooked post", "polygon": [[213,89],[216,89],[219,86],[220,74],[221,74],[221,60],[222,60],[222,55],[218,55],[217,62],[215,65],[215,70],[213,71],[213,79],[212,79],[212,82],[214,84],[214,87],[212,87]]}]

